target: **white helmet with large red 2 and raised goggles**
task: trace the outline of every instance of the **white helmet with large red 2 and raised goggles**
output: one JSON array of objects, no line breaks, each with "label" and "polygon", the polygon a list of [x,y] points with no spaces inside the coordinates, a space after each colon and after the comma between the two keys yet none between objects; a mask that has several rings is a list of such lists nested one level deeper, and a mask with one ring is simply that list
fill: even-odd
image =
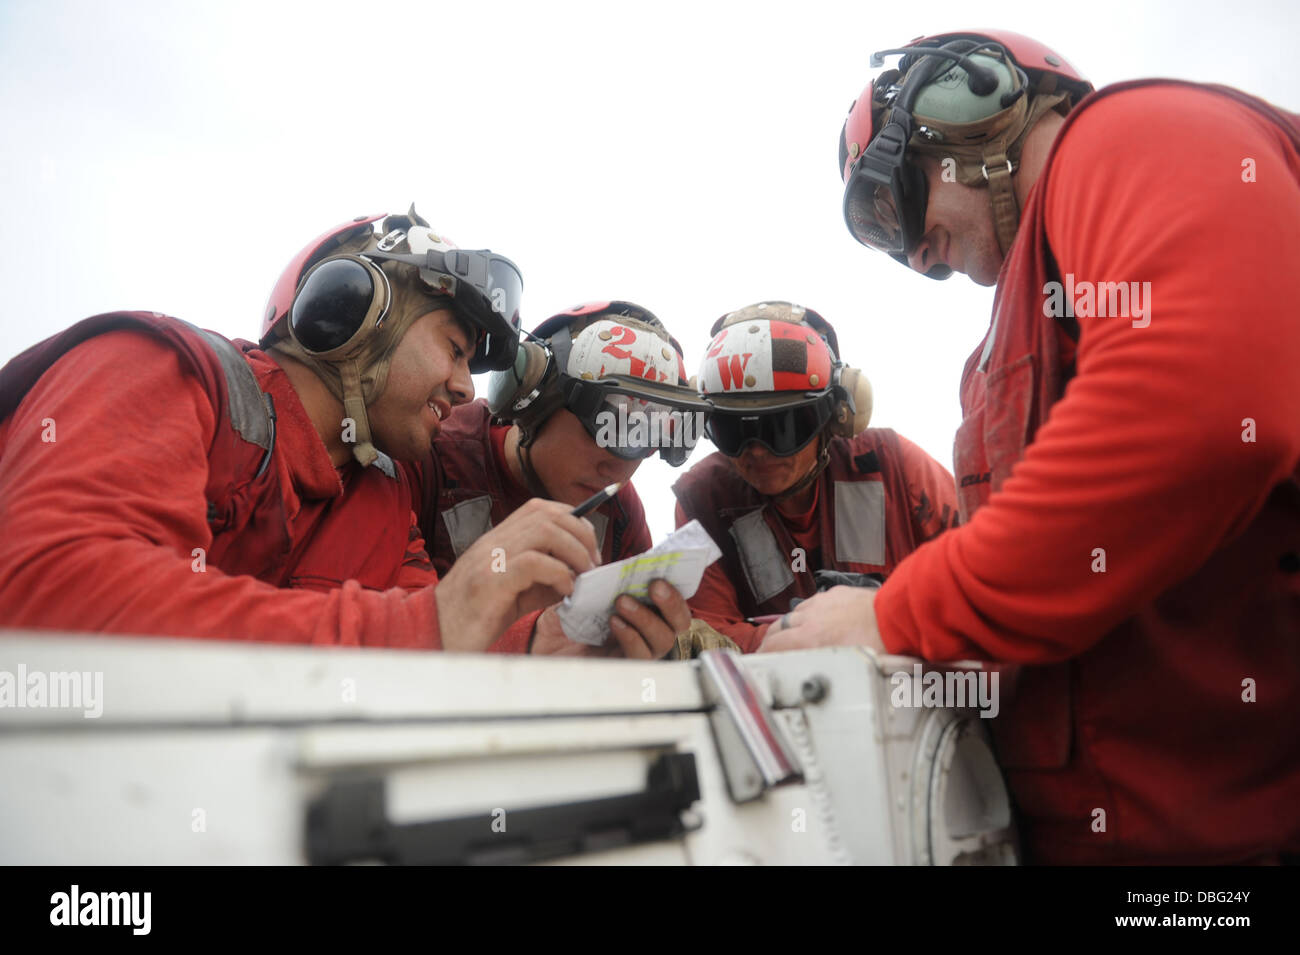
[{"label": "white helmet with large red 2 and raised goggles", "polygon": [[[673,466],[686,460],[697,433],[682,427],[680,412],[702,411],[703,403],[685,385],[681,346],[654,313],[630,301],[589,301],[551,316],[529,338],[515,364],[494,373],[488,387],[493,414],[519,426],[520,448],[566,408],[619,457],[658,451]],[[608,426],[633,412],[662,417],[654,427]]]}]

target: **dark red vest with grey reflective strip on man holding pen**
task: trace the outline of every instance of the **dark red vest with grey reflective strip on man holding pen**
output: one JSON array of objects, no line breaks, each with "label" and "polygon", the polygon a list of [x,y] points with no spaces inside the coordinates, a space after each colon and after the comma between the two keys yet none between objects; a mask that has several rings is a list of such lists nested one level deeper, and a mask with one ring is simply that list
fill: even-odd
[{"label": "dark red vest with grey reflective strip on man holding pen", "polygon": [[351,476],[343,496],[326,503],[309,529],[300,522],[296,539],[291,539],[286,513],[292,490],[281,481],[274,407],[243,357],[256,350],[255,344],[230,342],[157,312],[94,316],[36,343],[0,369],[0,421],[64,353],[121,329],[152,334],[173,347],[212,400],[217,430],[204,489],[211,567],[276,586],[328,589],[348,579],[376,590],[394,585],[410,542],[411,494],[391,461]]}]

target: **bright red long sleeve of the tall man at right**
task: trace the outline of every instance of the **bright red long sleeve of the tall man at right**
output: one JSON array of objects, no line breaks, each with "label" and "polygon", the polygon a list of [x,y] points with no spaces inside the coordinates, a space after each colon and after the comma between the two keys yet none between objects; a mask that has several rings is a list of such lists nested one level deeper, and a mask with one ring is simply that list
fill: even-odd
[{"label": "bright red long sleeve of the tall man at right", "polygon": [[1011,477],[881,587],[890,652],[1075,656],[1296,473],[1297,179],[1274,126],[1208,91],[1115,95],[1066,131],[1044,197],[1061,274],[1149,282],[1149,325],[1078,317],[1076,376]]}]

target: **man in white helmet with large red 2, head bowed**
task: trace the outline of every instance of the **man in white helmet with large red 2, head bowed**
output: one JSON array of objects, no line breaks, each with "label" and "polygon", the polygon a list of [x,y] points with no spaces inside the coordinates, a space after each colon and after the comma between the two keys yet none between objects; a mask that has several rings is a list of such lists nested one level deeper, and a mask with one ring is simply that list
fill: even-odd
[{"label": "man in white helmet with large red 2, head bowed", "polygon": [[[542,322],[520,346],[515,364],[493,373],[488,400],[452,411],[432,456],[406,465],[416,517],[439,574],[450,573],[474,542],[529,500],[575,507],[620,482],[612,499],[586,515],[601,560],[650,548],[645,508],[630,478],[654,453],[680,465],[697,435],[645,426],[620,433],[620,424],[630,417],[634,425],[637,414],[662,414],[672,424],[672,409],[627,394],[606,395],[603,382],[612,376],[659,383],[670,400],[675,388],[694,399],[682,383],[681,346],[649,309],[593,301]],[[689,618],[685,600],[670,583],[655,587],[672,618]],[[630,598],[625,602],[632,612],[640,608]],[[618,615],[611,620],[614,631],[629,624]]]}]

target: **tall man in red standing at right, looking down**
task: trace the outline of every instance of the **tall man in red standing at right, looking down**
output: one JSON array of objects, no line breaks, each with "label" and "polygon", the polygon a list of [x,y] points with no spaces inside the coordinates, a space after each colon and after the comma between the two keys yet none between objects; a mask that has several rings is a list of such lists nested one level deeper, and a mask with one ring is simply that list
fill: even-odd
[{"label": "tall man in red standing at right, looking down", "polygon": [[845,216],[997,285],[962,382],[963,526],[764,648],[1020,664],[994,735],[1031,859],[1292,858],[1297,117],[1176,81],[1076,103],[1014,34],[904,52],[845,123]]}]

